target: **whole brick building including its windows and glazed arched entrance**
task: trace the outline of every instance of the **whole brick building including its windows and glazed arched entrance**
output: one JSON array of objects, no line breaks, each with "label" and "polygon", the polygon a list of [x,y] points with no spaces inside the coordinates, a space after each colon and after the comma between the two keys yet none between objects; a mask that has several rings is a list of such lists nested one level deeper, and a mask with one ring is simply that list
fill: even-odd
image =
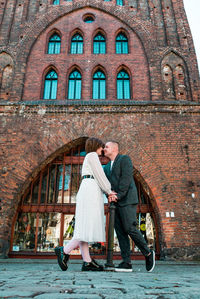
[{"label": "whole brick building including its windows and glazed arched entrance", "polygon": [[[84,143],[96,136],[133,161],[149,246],[199,258],[200,82],[183,1],[0,6],[1,257],[52,257],[68,242]],[[91,251],[105,257],[106,244]]]}]

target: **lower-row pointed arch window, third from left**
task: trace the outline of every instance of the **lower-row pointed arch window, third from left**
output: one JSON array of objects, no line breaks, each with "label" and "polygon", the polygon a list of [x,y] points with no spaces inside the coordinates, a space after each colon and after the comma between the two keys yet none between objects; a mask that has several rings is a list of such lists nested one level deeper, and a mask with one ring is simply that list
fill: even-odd
[{"label": "lower-row pointed arch window, third from left", "polygon": [[98,70],[93,75],[93,99],[105,99],[106,98],[106,76]]}]

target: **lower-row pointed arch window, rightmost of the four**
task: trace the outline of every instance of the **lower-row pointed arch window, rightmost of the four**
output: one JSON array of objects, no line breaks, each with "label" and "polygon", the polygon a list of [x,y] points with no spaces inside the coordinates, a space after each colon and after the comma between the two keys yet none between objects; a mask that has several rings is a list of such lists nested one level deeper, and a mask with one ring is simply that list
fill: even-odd
[{"label": "lower-row pointed arch window, rightmost of the four", "polygon": [[124,70],[117,75],[117,99],[130,99],[130,78]]}]

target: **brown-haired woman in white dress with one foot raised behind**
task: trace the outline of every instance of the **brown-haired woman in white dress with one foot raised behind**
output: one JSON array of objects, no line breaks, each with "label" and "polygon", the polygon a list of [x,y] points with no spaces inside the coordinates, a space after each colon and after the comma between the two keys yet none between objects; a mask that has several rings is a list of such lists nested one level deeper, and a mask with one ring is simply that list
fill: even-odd
[{"label": "brown-haired woman in white dress with one foot raised behind", "polygon": [[104,144],[97,138],[88,138],[85,144],[87,155],[82,166],[82,182],[76,197],[75,229],[72,240],[64,247],[56,247],[58,264],[63,271],[68,268],[70,252],[80,247],[82,271],[102,271],[90,257],[89,242],[105,242],[103,193],[113,195],[99,157]]}]

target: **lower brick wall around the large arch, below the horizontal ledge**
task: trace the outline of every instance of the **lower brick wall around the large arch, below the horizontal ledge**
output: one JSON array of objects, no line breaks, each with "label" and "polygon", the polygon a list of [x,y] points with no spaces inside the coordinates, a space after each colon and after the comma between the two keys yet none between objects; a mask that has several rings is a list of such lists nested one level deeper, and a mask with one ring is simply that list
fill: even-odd
[{"label": "lower brick wall around the large arch, below the horizontal ledge", "polygon": [[[10,220],[31,176],[70,142],[97,136],[103,140],[118,140],[122,153],[131,156],[152,191],[153,205],[159,213],[162,250],[198,248],[199,108],[193,107],[194,115],[189,111],[191,107],[183,111],[177,106],[164,107],[166,111],[161,106],[157,112],[145,106],[143,111],[133,106],[129,113],[126,106],[116,107],[117,113],[109,111],[109,106],[98,110],[86,108],[89,112],[84,112],[83,107],[77,113],[73,113],[72,107],[71,113],[57,107],[43,107],[42,111],[41,107],[25,110],[19,107],[15,112],[12,107],[4,110],[1,117],[1,136],[5,137],[2,140],[3,230],[0,237],[10,234]],[[59,119],[55,117],[58,112]],[[175,217],[166,217],[166,212],[174,212]]]}]

